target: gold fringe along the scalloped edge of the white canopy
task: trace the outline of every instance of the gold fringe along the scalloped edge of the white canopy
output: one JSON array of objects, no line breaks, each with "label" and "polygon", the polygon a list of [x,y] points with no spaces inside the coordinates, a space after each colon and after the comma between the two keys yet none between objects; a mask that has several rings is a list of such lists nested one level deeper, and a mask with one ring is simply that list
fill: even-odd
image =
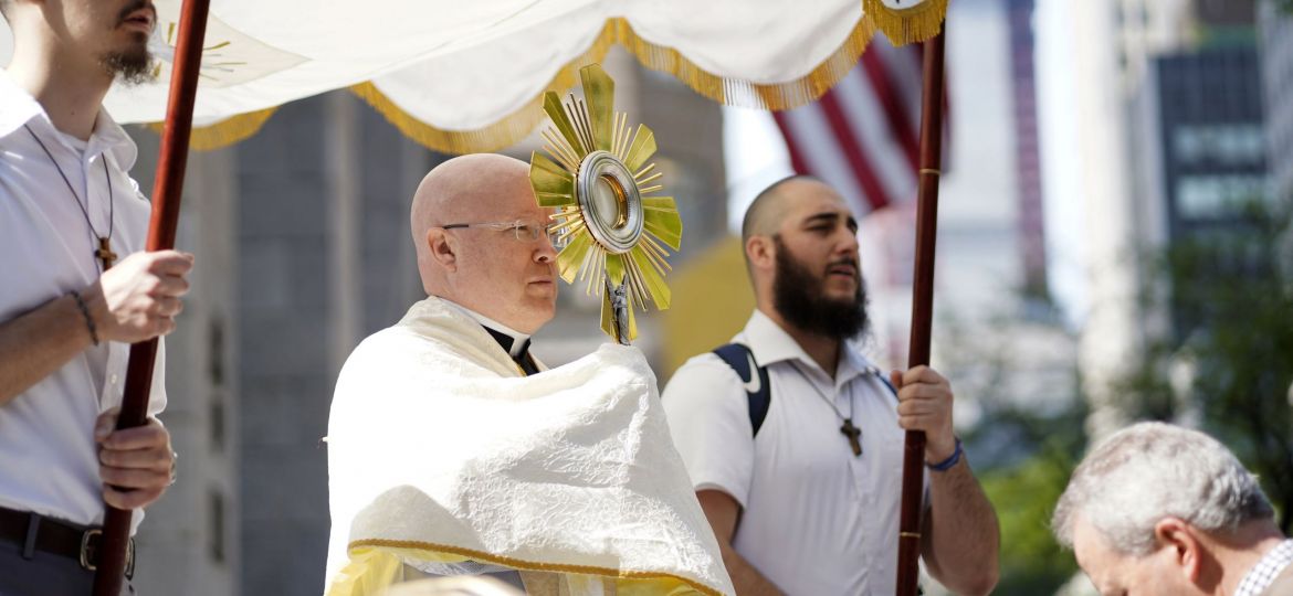
[{"label": "gold fringe along the scalloped edge of the white canopy", "polygon": [[[912,6],[893,9],[882,0],[862,0],[862,18],[857,21],[839,49],[817,65],[808,75],[776,84],[758,84],[714,75],[674,48],[657,45],[637,36],[625,18],[606,19],[601,34],[578,58],[566,63],[548,85],[520,110],[498,123],[476,130],[445,130],[427,124],[397,106],[372,83],[350,86],[406,137],[445,154],[497,151],[516,144],[543,119],[543,95],[574,86],[579,68],[601,62],[610,46],[619,44],[643,66],[674,75],[679,81],[715,102],[728,106],[782,111],[804,106],[835,86],[861,58],[877,32],[883,32],[893,45],[926,41],[943,30],[949,0],[924,0]],[[204,151],[237,143],[260,130],[274,108],[230,117],[211,126],[193,129],[191,148]],[[160,124],[150,124],[160,130]]]}]

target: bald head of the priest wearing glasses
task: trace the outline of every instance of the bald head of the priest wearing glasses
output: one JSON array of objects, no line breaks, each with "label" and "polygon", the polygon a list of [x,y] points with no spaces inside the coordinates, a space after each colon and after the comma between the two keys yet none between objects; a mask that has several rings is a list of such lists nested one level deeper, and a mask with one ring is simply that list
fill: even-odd
[{"label": "bald head of the priest wearing glasses", "polygon": [[[547,215],[524,161],[475,154],[437,165],[418,184],[409,217],[423,289],[531,333],[556,301],[556,252],[546,233],[525,236]],[[524,232],[507,226],[516,222]]]}]

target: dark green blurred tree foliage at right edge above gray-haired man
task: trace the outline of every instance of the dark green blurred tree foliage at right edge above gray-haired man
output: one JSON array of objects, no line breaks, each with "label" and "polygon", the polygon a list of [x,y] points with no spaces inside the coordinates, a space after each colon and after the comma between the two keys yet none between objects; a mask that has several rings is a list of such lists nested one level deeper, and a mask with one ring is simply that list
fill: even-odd
[{"label": "dark green blurred tree foliage at right edge above gray-haired man", "polygon": [[1184,419],[1228,445],[1293,529],[1293,275],[1289,213],[1254,205],[1152,259],[1147,304],[1170,313],[1124,383],[1138,419]]}]

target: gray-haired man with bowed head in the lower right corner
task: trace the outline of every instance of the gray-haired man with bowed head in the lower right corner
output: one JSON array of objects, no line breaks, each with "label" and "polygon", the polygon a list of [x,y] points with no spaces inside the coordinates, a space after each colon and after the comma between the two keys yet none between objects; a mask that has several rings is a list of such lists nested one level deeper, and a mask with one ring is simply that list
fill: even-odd
[{"label": "gray-haired man with bowed head in the lower right corner", "polygon": [[1293,595],[1293,541],[1257,479],[1197,431],[1144,422],[1108,437],[1053,525],[1103,595]]}]

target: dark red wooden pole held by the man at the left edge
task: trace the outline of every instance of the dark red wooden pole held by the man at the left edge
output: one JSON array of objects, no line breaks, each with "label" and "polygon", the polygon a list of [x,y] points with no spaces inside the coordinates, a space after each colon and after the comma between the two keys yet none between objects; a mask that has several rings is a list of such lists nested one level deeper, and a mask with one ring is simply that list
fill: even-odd
[{"label": "dark red wooden pole held by the man at the left edge", "polygon": [[[198,97],[202,40],[207,34],[209,8],[211,0],[184,0],[180,12],[175,67],[171,71],[171,95],[166,125],[162,129],[156,178],[153,182],[153,217],[149,221],[149,239],[145,248],[149,252],[175,248],[184,170],[189,161],[189,135],[193,132],[193,103]],[[156,338],[131,346],[131,360],[125,369],[125,392],[122,397],[120,415],[116,418],[118,430],[144,426],[147,422],[149,391],[153,387],[156,353]],[[122,579],[125,575],[133,511],[107,504],[105,507],[107,515],[98,547],[94,596],[119,596]]]}]

